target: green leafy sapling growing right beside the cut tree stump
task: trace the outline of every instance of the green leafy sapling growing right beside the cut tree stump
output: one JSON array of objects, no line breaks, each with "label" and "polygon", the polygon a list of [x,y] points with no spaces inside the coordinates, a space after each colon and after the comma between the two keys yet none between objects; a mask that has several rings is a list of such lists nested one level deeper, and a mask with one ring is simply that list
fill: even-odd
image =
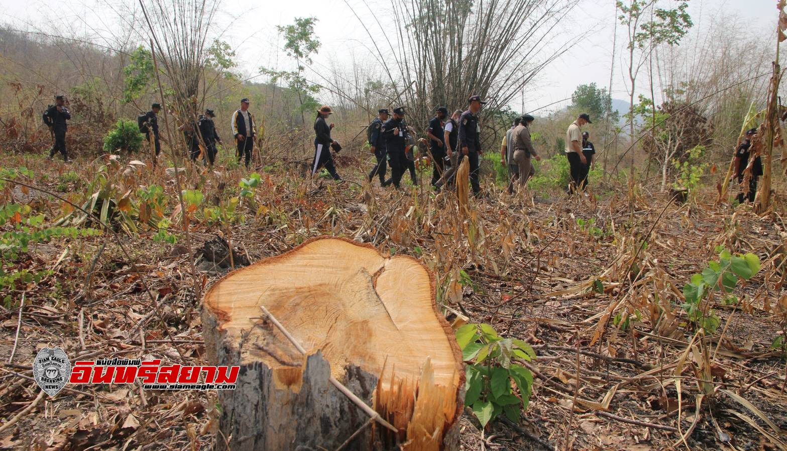
[{"label": "green leafy sapling growing right beside the cut tree stump", "polygon": [[485,323],[460,327],[456,342],[467,362],[464,405],[472,408],[483,427],[501,413],[508,420],[518,422],[519,414],[530,402],[533,375],[513,360],[532,360],[533,348],[523,340],[501,337]]}]

